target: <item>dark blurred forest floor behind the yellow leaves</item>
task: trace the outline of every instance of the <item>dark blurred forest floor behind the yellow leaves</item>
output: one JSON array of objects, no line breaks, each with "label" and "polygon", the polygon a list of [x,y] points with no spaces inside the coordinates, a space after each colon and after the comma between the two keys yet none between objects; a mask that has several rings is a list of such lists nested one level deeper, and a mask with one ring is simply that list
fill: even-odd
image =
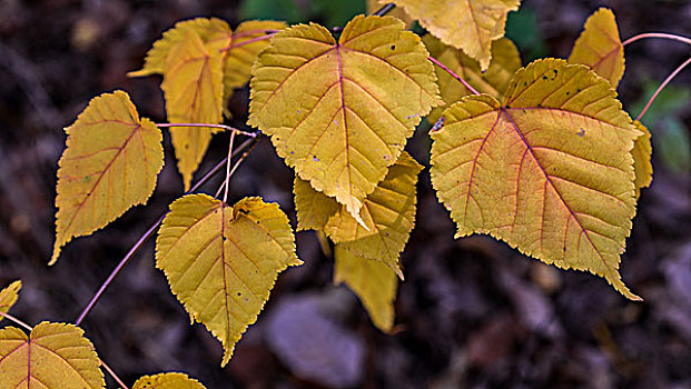
[{"label": "dark blurred forest floor behind the yellow leaves", "polygon": [[[507,34],[524,62],[566,57],[586,17],[610,7],[622,38],[691,36],[685,0],[525,0]],[[167,164],[146,207],[77,239],[47,267],[53,243],[57,161],[88,100],[113,89],[140,114],[165,120],[160,79],[128,79],[149,46],[180,19],[216,16],[342,26],[364,2],[328,0],[0,0],[0,287],[22,279],[13,315],[30,323],[72,321],[138,237],[181,192],[169,139]],[[645,40],[626,48],[621,99],[632,116],[690,48]],[[244,127],[247,89],[230,101]],[[560,271],[487,237],[454,240],[448,213],[418,183],[418,222],[403,255],[406,280],[396,333],[369,322],[356,298],[332,283],[333,262],[313,232],[297,233],[305,261],[279,277],[257,325],[219,367],[220,345],[172,297],[149,242],[83,328],[100,357],[131,385],[140,375],[186,371],[220,388],[691,388],[691,69],[644,122],[653,133],[654,180],[642,192],[623,279],[630,302],[600,278]],[[426,126],[426,127],[425,127]],[[408,150],[428,164],[428,123]],[[167,136],[166,136],[167,137]],[[199,169],[224,157],[218,134]],[[217,177],[205,191],[213,193]],[[292,171],[264,139],[231,180],[231,202],[278,201],[295,220]],[[3,322],[7,325],[7,322]],[[112,383],[112,382],[111,382]]]}]

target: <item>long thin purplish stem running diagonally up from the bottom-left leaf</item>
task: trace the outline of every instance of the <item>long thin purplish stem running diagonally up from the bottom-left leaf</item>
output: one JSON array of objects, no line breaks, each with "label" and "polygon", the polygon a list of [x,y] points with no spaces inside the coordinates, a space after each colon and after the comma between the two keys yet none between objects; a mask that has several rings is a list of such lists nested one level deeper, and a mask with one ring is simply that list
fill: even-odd
[{"label": "long thin purplish stem running diagonally up from the bottom-left leaf", "polygon": [[[235,157],[236,154],[243,152],[249,146],[256,143],[258,139],[259,138],[256,138],[256,133],[255,133],[251,139],[247,139],[246,141],[244,141],[243,144],[240,144],[233,152],[233,156],[230,156],[230,157]],[[199,189],[199,187],[201,187],[203,184],[205,184],[211,177],[214,177],[214,174],[216,174],[218,171],[220,171],[220,169],[223,169],[223,167],[226,164],[226,161],[227,161],[227,158],[224,158],[223,161],[218,162],[197,183],[195,183],[195,186],[193,186],[187,192],[185,192],[185,194],[189,194],[189,193],[196,191],[197,189]],[[96,295],[93,295],[93,297],[91,298],[91,300],[89,301],[87,307],[85,307],[85,309],[81,311],[81,313],[79,313],[79,318],[75,322],[77,326],[79,326],[83,321],[83,319],[87,317],[87,315],[89,315],[91,309],[93,309],[93,306],[96,306],[98,300],[101,298],[101,296],[103,295],[106,289],[110,286],[110,283],[112,283],[112,281],[118,276],[118,273],[120,273],[120,271],[122,270],[125,265],[127,265],[127,262],[129,262],[129,260],[137,253],[137,251],[139,251],[139,249],[141,249],[144,243],[146,243],[151,238],[151,236],[154,236],[154,232],[156,231],[158,226],[160,226],[160,223],[164,220],[164,218],[166,217],[166,215],[168,215],[168,212],[164,213],[160,218],[158,218],[158,221],[156,221],[156,223],[154,223],[154,226],[151,226],[139,238],[139,240],[137,240],[137,243],[135,243],[135,246],[132,246],[132,248],[127,252],[127,255],[125,257],[122,257],[122,259],[120,260],[118,266],[116,266],[116,268],[112,270],[112,272],[110,272],[110,275],[108,276],[106,281],[103,281],[103,283],[100,286],[100,288],[98,289]]]}]

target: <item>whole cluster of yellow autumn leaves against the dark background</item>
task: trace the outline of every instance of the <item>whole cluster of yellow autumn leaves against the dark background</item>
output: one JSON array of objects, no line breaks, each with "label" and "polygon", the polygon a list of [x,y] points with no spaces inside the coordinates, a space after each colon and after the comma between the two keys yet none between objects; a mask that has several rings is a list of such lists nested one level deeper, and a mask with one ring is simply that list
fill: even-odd
[{"label": "whole cluster of yellow autumn leaves against the dark background", "polygon": [[[167,31],[130,76],[162,74],[169,123],[140,118],[116,91],[92,99],[66,129],[51,263],[71,239],[148,200],[164,164],[161,127],[170,127],[189,189],[213,134],[226,128],[227,99],[249,81],[248,124],[295,170],[297,229],[330,238],[335,280],[355,291],[382,330],[393,326],[399,256],[415,225],[423,167],[404,148],[423,117],[436,121],[432,183],[457,237],[492,235],[639,299],[618,269],[639,190],[652,178],[650,133],[616,100],[624,58],[613,13],[602,9],[588,20],[567,61],[522,68],[503,38],[519,0],[395,3],[431,34],[421,39],[379,16],[355,17],[338,39],[315,23],[274,21],[233,31],[219,19],[195,19]],[[278,273],[302,263],[277,205],[225,199],[174,201],[156,241],[157,267],[193,322],[221,341],[221,365]],[[3,313],[18,289],[0,295]],[[75,326],[41,323],[29,337],[0,330],[1,382],[56,387],[72,377],[75,387],[100,388],[99,363]],[[176,380],[193,382],[154,376],[135,388],[184,387],[161,383]]]}]

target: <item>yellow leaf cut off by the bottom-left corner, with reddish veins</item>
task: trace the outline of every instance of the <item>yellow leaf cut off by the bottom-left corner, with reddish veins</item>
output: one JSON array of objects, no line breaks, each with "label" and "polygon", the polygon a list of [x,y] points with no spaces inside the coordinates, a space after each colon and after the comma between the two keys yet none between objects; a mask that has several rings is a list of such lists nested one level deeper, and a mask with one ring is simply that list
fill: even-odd
[{"label": "yellow leaf cut off by the bottom-left corner, with reddish veins", "polygon": [[79,327],[42,322],[29,337],[14,327],[0,330],[1,388],[105,388],[100,365]]}]

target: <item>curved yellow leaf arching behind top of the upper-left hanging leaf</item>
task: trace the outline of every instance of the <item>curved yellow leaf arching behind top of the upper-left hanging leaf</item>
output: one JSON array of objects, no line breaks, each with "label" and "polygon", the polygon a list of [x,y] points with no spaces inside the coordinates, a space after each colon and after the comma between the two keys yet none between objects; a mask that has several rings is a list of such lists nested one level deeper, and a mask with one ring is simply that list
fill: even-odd
[{"label": "curved yellow leaf arching behind top of the upper-left hanging leaf", "polygon": [[129,77],[142,77],[150,74],[162,74],[166,69],[166,59],[170,50],[177,46],[189,31],[196,32],[205,47],[209,51],[220,51],[230,44],[231,30],[228,23],[217,18],[197,18],[176,23],[174,28],[166,31],[164,36],[154,43],[147,52],[144,68],[138,71],[127,73]]}]

